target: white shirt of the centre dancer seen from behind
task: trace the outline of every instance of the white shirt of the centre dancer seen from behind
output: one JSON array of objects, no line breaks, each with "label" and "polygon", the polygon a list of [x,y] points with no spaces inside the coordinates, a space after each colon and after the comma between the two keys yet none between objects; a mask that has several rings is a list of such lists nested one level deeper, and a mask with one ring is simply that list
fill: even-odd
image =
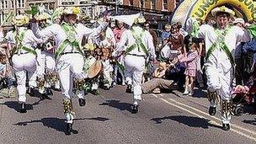
[{"label": "white shirt of the centre dancer seen from behind", "polygon": [[[149,56],[154,59],[156,58],[156,54],[155,54],[155,46],[153,44],[153,38],[152,35],[150,35],[150,33],[147,30],[144,30],[139,27],[139,26],[133,26],[132,27],[137,34],[142,34],[141,36],[141,41],[142,43],[145,45],[145,47],[147,48],[147,51],[149,53]],[[136,43],[135,38],[132,35],[131,29],[126,29],[123,34],[121,35],[121,39],[120,39],[120,43],[119,45],[116,45],[117,49],[116,51],[121,52],[121,51],[126,51],[126,49],[128,47],[130,47],[131,45],[133,45],[134,43]],[[139,51],[138,48],[135,48],[134,50],[132,50],[131,52],[129,52],[130,54],[136,54],[136,55],[140,55],[140,56],[146,56],[146,54],[141,50]]]}]

